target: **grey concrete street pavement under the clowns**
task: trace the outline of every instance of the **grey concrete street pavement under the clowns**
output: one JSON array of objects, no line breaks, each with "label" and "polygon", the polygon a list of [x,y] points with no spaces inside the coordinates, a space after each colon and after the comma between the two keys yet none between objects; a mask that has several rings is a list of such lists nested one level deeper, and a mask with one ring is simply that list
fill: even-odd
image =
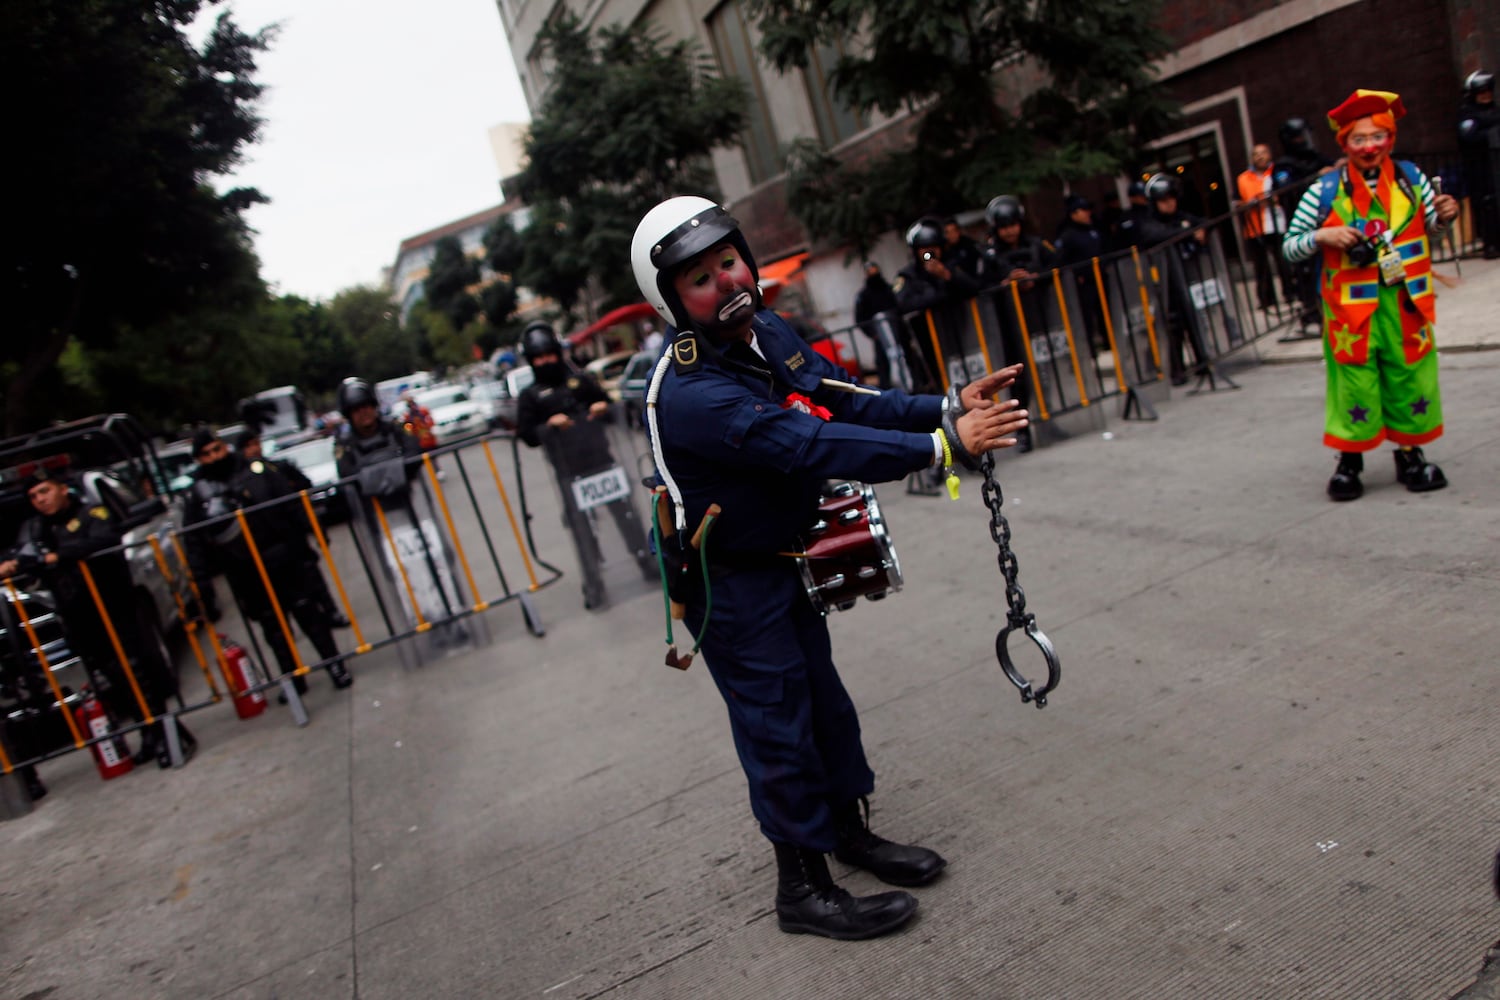
[{"label": "grey concrete street pavement under the clowns", "polygon": [[1383,448],[1329,502],[1316,360],[1004,456],[1064,664],[1044,711],[996,664],[980,481],[882,487],[906,589],[832,631],[873,828],[950,859],[900,934],[777,930],[708,673],[662,664],[628,573],[582,610],[526,454],[566,573],[546,637],[507,604],[478,652],[314,678],[304,729],[224,705],[182,771],[44,765],[51,795],[0,823],[0,996],[1454,997],[1500,940],[1500,352],[1456,349],[1496,343],[1500,267],[1464,274],[1438,306],[1446,490],[1395,486]]}]

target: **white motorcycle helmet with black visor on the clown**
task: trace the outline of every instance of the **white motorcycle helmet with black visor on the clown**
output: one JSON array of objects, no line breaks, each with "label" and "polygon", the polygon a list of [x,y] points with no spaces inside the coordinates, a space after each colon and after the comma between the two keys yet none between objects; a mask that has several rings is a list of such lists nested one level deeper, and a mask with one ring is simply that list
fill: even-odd
[{"label": "white motorcycle helmet with black visor on the clown", "polygon": [[636,226],[636,235],[630,241],[636,285],[651,307],[678,330],[692,327],[692,321],[681,313],[682,303],[672,289],[672,270],[726,240],[740,250],[740,256],[750,265],[750,276],[759,285],[760,271],[740,232],[740,223],[706,198],[668,198]]}]

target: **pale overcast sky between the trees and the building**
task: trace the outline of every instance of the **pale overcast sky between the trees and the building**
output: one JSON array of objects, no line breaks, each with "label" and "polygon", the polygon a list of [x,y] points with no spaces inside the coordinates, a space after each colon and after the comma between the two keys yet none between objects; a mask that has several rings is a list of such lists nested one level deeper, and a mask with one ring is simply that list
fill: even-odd
[{"label": "pale overcast sky between the trees and the building", "polygon": [[500,202],[488,130],[528,114],[495,0],[226,6],[244,31],[282,22],[258,61],[264,135],[216,178],[272,199],[248,217],[273,291],[372,285],[404,238]]}]

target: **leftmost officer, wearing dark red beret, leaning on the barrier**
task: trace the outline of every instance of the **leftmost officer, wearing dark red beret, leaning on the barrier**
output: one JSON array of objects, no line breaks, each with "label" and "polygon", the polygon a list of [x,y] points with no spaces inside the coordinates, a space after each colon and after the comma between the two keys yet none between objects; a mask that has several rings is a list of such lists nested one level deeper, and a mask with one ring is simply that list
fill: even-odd
[{"label": "leftmost officer, wearing dark red beret, leaning on the barrier", "polygon": [[[36,514],[26,520],[9,558],[0,562],[0,577],[21,571],[40,579],[63,615],[69,648],[94,678],[99,700],[116,718],[144,721],[118,652],[110,642],[110,630],[80,568],[86,564],[110,615],[110,625],[130,661],[141,697],[152,715],[159,718],[166,712],[166,699],[177,694],[177,679],[171,664],[162,663],[158,643],[141,634],[135,618],[135,585],[124,555],[108,552],[123,541],[114,514],[108,507],[84,507],[68,484],[45,468],[33,472],[26,486]],[[190,757],[198,741],[180,721],[177,730],[183,754]],[[146,763],[152,757],[162,768],[172,765],[160,721],[141,730],[135,762]]]}]

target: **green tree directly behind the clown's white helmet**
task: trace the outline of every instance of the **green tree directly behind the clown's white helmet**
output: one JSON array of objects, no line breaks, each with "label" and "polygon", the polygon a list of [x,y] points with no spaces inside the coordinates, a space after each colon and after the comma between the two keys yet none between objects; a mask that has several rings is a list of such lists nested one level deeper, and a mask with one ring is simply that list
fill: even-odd
[{"label": "green tree directly behind the clown's white helmet", "polygon": [[672,195],[716,196],[708,153],[744,127],[744,85],[645,22],[591,36],[566,15],[537,43],[556,66],[525,144],[519,193],[531,223],[514,280],[567,310],[591,282],[603,307],[633,301],[636,223]]}]

